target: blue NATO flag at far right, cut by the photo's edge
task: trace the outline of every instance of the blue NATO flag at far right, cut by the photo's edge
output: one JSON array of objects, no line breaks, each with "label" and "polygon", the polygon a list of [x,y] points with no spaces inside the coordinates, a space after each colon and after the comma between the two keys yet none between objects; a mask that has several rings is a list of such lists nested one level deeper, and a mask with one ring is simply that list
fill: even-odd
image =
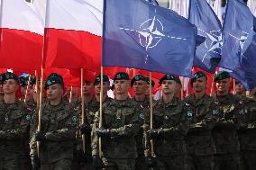
[{"label": "blue NATO flag at far right, cut by the photo's edge", "polygon": [[256,85],[255,18],[241,0],[229,0],[224,17],[224,46],[219,66],[233,70],[233,78],[247,90]]}]

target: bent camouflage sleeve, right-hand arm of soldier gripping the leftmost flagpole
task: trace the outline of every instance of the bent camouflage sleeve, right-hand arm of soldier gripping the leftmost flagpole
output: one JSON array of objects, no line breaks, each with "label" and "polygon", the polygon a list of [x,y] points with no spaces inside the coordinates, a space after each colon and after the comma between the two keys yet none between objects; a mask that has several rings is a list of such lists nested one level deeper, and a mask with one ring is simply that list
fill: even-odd
[{"label": "bent camouflage sleeve, right-hand arm of soldier gripping the leftmost flagpole", "polygon": [[76,138],[78,130],[78,114],[72,112],[65,123],[65,127],[60,130],[46,132],[45,138],[48,141],[66,141]]}]

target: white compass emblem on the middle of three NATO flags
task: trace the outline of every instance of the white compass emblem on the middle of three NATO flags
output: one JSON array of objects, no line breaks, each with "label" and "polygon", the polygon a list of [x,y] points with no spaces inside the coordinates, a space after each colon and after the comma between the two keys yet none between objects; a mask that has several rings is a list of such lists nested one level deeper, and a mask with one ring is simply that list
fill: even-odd
[{"label": "white compass emblem on the middle of three NATO flags", "polygon": [[[198,31],[203,31],[199,28],[197,28]],[[206,40],[204,42],[205,48],[206,48],[206,54],[204,55],[202,59],[202,63],[204,62],[206,56],[209,54],[209,52],[215,53],[217,55],[221,55],[222,47],[224,45],[223,42],[223,34],[221,30],[218,31],[203,31],[206,34]]]}]

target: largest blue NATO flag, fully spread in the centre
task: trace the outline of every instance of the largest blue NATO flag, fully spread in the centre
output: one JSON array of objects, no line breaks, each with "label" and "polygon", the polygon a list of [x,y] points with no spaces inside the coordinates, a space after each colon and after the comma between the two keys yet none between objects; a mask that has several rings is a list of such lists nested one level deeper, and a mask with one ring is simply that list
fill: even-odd
[{"label": "largest blue NATO flag, fully spread in the centre", "polygon": [[106,0],[103,66],[191,76],[197,27],[144,0]]}]

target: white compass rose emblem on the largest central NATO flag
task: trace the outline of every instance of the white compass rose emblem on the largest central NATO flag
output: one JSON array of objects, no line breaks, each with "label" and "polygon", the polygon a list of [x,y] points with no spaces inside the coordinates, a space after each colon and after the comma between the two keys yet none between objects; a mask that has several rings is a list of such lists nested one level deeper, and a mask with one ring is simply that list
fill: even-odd
[{"label": "white compass rose emblem on the largest central NATO flag", "polygon": [[[155,13],[156,13],[156,9],[155,9]],[[157,48],[161,40],[166,38],[176,39],[176,40],[187,40],[183,38],[165,35],[164,25],[162,22],[160,22],[159,19],[156,18],[156,16],[153,16],[152,18],[146,20],[145,22],[142,22],[138,30],[132,30],[129,28],[119,28],[119,29],[124,31],[134,31],[138,34],[140,45],[147,51],[145,64],[147,63],[147,60],[149,57],[148,50]]]}]

